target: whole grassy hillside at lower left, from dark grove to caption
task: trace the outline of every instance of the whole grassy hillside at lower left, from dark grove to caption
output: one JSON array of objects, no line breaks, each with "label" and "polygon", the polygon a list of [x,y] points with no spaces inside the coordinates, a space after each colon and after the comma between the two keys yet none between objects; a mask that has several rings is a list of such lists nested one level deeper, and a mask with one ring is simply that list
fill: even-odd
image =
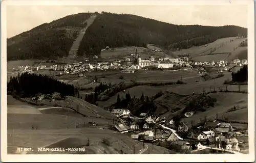
[{"label": "whole grassy hillside at lower left, from dark grove to caption", "polygon": [[[87,104],[87,107],[92,107],[92,104],[84,103]],[[153,148],[150,144],[143,147],[142,142],[132,140],[129,134],[121,134],[118,131],[108,129],[110,125],[113,125],[113,120],[83,117],[77,113],[72,113],[71,110],[68,111],[68,108],[35,106],[33,109],[41,114],[33,112],[28,114],[22,110],[12,112],[14,107],[9,107],[20,105],[27,105],[32,108],[31,105],[8,96],[7,110],[11,112],[7,115],[7,144],[8,153],[10,154],[17,153],[17,147],[32,147],[33,151],[28,152],[28,154],[47,154],[47,152],[38,152],[37,148],[56,146],[85,147],[86,151],[82,154],[119,154],[122,152],[132,154],[133,152],[139,153],[146,147],[151,147],[151,149],[146,149],[145,154],[148,153],[148,150],[155,154],[174,153],[174,151],[163,147],[154,146]],[[98,108],[98,114],[103,113],[99,107],[94,106],[94,108]],[[113,117],[109,112],[108,114]],[[108,117],[106,113],[104,115]],[[83,125],[89,122],[94,122],[97,126],[90,127],[89,125],[76,128],[77,124]],[[32,129],[32,127],[36,127],[36,129]],[[109,143],[104,143],[104,139],[108,140]],[[62,154],[65,153],[70,152],[63,152]],[[55,154],[61,154],[61,152],[55,152]]]}]

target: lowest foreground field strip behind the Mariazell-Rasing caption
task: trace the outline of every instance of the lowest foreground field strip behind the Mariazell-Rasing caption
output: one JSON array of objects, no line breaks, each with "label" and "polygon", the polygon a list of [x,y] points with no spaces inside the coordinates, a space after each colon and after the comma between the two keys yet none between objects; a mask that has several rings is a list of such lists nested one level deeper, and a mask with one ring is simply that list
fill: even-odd
[{"label": "lowest foreground field strip behind the Mariazell-Rasing caption", "polygon": [[[102,142],[103,139],[108,139],[110,144]],[[24,141],[19,141],[24,140]],[[89,146],[88,140],[90,140]],[[14,148],[10,147],[32,147],[34,151],[28,154],[35,154],[38,147],[85,147],[83,154],[118,154],[122,152],[133,154],[140,153],[143,149],[148,148],[150,153],[174,153],[163,147],[145,144],[132,140],[127,135],[112,131],[109,129],[100,130],[98,128],[83,128],[83,129],[46,129],[46,130],[8,130],[8,146],[10,153],[15,152]],[[134,151],[135,149],[135,151]],[[148,153],[148,151],[144,153]],[[65,152],[59,152],[59,154]],[[70,152],[68,152],[70,153]],[[43,154],[40,152],[40,154]],[[47,154],[47,152],[44,152]]]}]

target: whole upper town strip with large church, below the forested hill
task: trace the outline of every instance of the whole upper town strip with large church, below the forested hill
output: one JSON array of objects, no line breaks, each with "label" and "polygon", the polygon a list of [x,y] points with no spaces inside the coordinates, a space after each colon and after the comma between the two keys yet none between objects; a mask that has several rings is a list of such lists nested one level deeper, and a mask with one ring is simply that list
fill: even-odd
[{"label": "whole upper town strip with large church, below the forested hill", "polygon": [[[109,47],[105,48],[109,50]],[[104,49],[104,50],[105,50]],[[152,50],[159,51],[159,50]],[[94,59],[98,59],[98,56],[94,56]],[[93,62],[88,63],[89,60],[85,59],[83,62],[74,62],[63,64],[51,64],[51,66],[46,66],[44,63],[40,63],[35,66],[19,65],[17,69],[12,69],[12,75],[19,73],[36,73],[38,70],[51,70],[47,75],[69,75],[69,74],[79,74],[83,76],[85,72],[91,71],[106,71],[106,70],[120,70],[120,73],[134,73],[136,70],[147,70],[147,69],[165,69],[165,70],[188,70],[194,66],[203,66],[211,68],[219,68],[219,72],[228,71],[226,66],[242,66],[247,65],[247,60],[234,59],[231,62],[227,61],[206,61],[206,62],[196,62],[189,60],[189,54],[184,54],[184,56],[179,58],[154,58],[153,56],[148,57],[148,59],[142,60],[140,55],[135,49],[135,53],[131,54],[130,57],[126,57],[122,60],[116,60],[114,62]],[[203,69],[202,69],[203,70]],[[16,73],[14,73],[16,72]]]}]

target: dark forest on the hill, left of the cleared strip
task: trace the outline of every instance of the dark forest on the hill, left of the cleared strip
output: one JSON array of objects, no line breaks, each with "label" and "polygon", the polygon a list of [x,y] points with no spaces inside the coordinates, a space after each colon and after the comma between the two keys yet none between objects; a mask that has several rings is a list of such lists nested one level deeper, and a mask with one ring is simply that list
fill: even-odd
[{"label": "dark forest on the hill, left of the cleared strip", "polygon": [[68,56],[79,31],[87,26],[91,13],[69,15],[7,39],[7,60]]}]

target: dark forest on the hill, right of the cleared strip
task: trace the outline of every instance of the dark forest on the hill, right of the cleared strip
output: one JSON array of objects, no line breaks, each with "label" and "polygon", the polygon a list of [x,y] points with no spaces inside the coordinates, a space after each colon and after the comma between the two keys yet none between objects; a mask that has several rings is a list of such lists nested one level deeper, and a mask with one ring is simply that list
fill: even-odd
[{"label": "dark forest on the hill, right of the cleared strip", "polygon": [[[99,55],[102,48],[156,44],[169,49],[189,48],[219,38],[247,35],[238,26],[174,25],[129,14],[102,13],[89,26],[78,55]],[[90,44],[88,44],[90,42]]]}]

